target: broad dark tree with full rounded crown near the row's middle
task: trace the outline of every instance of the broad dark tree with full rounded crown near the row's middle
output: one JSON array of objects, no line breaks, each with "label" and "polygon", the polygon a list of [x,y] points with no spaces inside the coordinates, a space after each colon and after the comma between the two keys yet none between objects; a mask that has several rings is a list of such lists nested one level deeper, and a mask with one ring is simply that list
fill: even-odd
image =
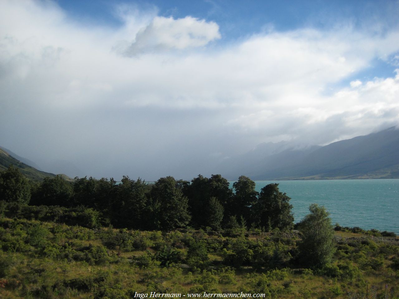
[{"label": "broad dark tree with full rounded crown near the row's middle", "polygon": [[157,229],[170,231],[184,228],[190,222],[188,199],[176,187],[173,177],[162,177],[151,189],[151,199]]}]

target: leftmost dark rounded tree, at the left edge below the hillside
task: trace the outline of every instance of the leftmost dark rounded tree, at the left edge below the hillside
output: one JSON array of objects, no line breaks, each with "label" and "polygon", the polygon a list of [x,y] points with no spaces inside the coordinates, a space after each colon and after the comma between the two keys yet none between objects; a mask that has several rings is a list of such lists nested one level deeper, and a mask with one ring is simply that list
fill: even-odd
[{"label": "leftmost dark rounded tree, at the left edge below the hillside", "polygon": [[10,165],[0,172],[0,200],[16,203],[29,203],[30,184],[18,168]]}]

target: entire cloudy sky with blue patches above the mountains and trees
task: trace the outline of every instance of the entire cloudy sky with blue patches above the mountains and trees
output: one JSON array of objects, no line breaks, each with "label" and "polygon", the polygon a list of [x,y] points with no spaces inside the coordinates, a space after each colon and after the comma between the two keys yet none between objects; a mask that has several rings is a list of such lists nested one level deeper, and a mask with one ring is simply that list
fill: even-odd
[{"label": "entire cloudy sky with blue patches above the mountains and trees", "polygon": [[399,1],[0,1],[0,145],[71,177],[217,173],[399,122]]}]

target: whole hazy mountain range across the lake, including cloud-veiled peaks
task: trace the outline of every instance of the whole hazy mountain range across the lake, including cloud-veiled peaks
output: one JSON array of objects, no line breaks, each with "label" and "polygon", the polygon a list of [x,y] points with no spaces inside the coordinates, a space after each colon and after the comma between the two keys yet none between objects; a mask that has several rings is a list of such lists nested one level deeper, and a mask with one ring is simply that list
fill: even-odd
[{"label": "whole hazy mountain range across the lake, including cloud-veiled peaks", "polygon": [[261,144],[223,161],[221,173],[229,179],[247,175],[254,180],[399,178],[398,149],[395,127],[327,146]]}]

